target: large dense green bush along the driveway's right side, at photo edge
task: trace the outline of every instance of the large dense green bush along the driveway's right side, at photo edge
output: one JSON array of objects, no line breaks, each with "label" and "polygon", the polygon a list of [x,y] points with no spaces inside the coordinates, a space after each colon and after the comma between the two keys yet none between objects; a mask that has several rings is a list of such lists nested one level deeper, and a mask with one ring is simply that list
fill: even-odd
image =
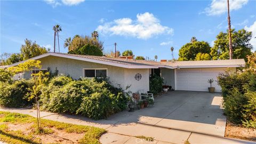
[{"label": "large dense green bush along the driveway's right side, at photo edge", "polygon": [[256,71],[254,67],[250,64],[242,70],[220,74],[218,83],[222,88],[222,105],[229,121],[256,128]]}]

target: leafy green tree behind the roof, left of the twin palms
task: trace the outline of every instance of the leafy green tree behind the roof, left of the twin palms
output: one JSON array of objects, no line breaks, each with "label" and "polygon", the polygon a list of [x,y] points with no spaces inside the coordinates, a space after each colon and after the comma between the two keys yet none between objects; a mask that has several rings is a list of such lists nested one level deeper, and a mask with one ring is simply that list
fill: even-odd
[{"label": "leafy green tree behind the roof, left of the twin palms", "polygon": [[41,47],[40,45],[36,44],[36,42],[25,39],[25,45],[21,45],[20,48],[20,57],[22,60],[26,60],[49,51],[50,49],[46,49],[45,47]]}]

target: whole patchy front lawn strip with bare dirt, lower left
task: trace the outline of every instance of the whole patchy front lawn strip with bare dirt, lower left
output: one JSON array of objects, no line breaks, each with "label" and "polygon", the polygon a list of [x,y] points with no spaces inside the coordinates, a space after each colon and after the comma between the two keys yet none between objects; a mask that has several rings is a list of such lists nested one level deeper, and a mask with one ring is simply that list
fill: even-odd
[{"label": "whole patchy front lawn strip with bare dirt, lower left", "polygon": [[106,132],[92,126],[67,124],[41,119],[40,131],[36,118],[0,111],[0,141],[6,143],[100,143]]}]

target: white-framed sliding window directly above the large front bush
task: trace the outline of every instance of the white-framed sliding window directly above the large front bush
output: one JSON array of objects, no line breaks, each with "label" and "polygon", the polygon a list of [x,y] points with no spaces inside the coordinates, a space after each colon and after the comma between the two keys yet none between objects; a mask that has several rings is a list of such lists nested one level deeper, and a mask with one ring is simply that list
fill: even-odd
[{"label": "white-framed sliding window directly above the large front bush", "polygon": [[107,77],[107,69],[84,69],[84,77]]}]

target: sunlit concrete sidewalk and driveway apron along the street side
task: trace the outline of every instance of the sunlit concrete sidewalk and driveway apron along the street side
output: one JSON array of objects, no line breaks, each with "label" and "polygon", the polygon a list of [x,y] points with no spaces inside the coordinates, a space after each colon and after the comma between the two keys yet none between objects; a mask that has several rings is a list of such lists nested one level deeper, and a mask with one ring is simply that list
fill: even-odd
[{"label": "sunlit concrete sidewalk and driveway apron along the street side", "polygon": [[[0,108],[0,111],[27,114],[36,117],[33,109]],[[228,139],[210,134],[202,134],[183,130],[175,130],[166,127],[148,125],[143,123],[122,124],[118,121],[102,119],[93,121],[89,118],[71,115],[59,115],[54,113],[41,112],[42,118],[52,121],[59,121],[78,125],[89,125],[106,129],[108,133],[100,138],[102,143],[256,143],[252,141]],[[144,117],[146,118],[146,117]],[[155,141],[149,142],[138,139],[136,136],[154,137]]]}]

